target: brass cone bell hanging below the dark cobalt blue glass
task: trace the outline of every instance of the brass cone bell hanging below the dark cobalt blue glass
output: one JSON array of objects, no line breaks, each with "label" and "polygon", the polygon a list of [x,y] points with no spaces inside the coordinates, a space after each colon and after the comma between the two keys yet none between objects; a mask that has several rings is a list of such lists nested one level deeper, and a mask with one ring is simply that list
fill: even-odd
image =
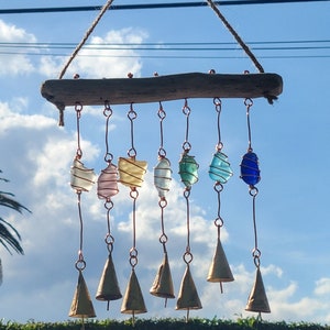
[{"label": "brass cone bell hanging below the dark cobalt blue glass", "polygon": [[271,312],[260,267],[256,268],[255,280],[245,307],[248,311]]}]

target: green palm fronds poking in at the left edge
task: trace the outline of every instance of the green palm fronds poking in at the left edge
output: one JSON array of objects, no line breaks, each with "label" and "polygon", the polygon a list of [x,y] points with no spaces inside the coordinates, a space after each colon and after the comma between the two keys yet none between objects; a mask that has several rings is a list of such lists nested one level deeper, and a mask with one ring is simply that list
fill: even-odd
[{"label": "green palm fronds poking in at the left edge", "polygon": [[[0,169],[0,173],[2,170]],[[8,183],[9,180],[6,178],[0,177],[1,182]],[[19,201],[13,199],[14,195],[11,193],[6,193],[0,190],[0,206],[13,209],[20,213],[23,212],[23,210],[30,212],[28,208],[22,206]],[[6,221],[2,217],[0,217],[0,243],[4,246],[4,249],[10,253],[11,250],[19,254],[24,254],[24,250],[21,246],[21,235],[16,231],[16,229]],[[2,283],[2,264],[0,258],[0,285]]]}]

